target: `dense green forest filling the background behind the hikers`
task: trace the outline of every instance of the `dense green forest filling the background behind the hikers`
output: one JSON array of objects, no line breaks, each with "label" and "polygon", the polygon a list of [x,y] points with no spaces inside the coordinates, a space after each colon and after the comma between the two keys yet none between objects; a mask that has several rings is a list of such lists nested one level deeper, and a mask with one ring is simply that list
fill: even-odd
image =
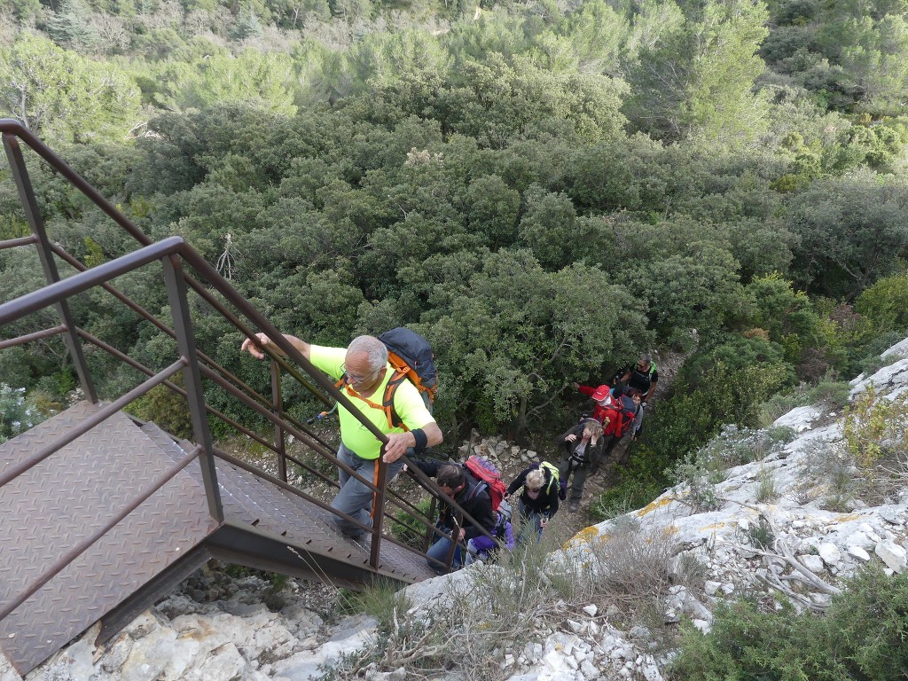
[{"label": "dense green forest filling the background behind the hikers", "polygon": [[[573,381],[684,351],[646,429],[663,461],[904,334],[906,100],[908,0],[0,0],[0,114],[278,327],[422,331],[450,435],[563,429]],[[134,247],[33,173],[69,252]],[[25,233],[0,183],[0,239]],[[4,300],[41,283],[31,252],[0,272]],[[118,284],[161,309],[153,276]],[[100,299],[74,307],[172,361]],[[267,385],[239,334],[197,332]],[[138,382],[90,360],[105,395]],[[75,385],[54,341],[0,353],[0,382],[6,422],[16,395],[46,409]]]}]

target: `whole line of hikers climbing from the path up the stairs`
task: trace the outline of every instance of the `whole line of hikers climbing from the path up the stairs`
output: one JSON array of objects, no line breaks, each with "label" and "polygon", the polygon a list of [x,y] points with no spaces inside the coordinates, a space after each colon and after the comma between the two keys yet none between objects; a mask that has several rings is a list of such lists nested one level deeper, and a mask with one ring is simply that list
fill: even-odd
[{"label": "whole line of hikers climbing from the path up the stairs", "polygon": [[[597,472],[627,433],[637,439],[646,402],[658,380],[656,365],[644,354],[636,364],[619,371],[611,385],[591,388],[575,383],[577,390],[594,401],[594,407],[589,416],[558,437],[560,465],[534,463],[505,488],[498,470],[484,459],[470,457],[466,464],[459,464],[420,456],[441,443],[442,433],[431,415],[429,390],[420,385],[419,376],[406,363],[401,368],[400,361],[390,362],[398,358],[395,352],[389,353],[389,347],[396,348],[385,337],[396,331],[405,334],[405,342],[416,339],[426,343],[406,329],[380,338],[359,336],[347,348],[312,345],[288,334],[283,334],[283,339],[312,366],[337,380],[336,386],[360,417],[369,420],[387,439],[382,449],[380,439],[338,401],[341,445],[337,459],[346,468],[339,467],[341,489],[331,508],[338,512],[334,522],[341,533],[362,545],[368,538],[373,511],[373,489],[350,475],[348,469],[379,486],[379,458],[386,465],[387,483],[404,468],[401,458],[407,454],[413,466],[436,480],[441,493],[436,534],[427,552],[429,567],[439,574],[448,571],[449,558],[450,568],[457,569],[488,558],[498,548],[538,541],[558,512],[560,500],[567,499],[568,510],[577,511],[588,475]],[[286,354],[264,333],[243,341],[241,351],[261,360],[266,347]],[[515,502],[517,516],[512,518]]]}]

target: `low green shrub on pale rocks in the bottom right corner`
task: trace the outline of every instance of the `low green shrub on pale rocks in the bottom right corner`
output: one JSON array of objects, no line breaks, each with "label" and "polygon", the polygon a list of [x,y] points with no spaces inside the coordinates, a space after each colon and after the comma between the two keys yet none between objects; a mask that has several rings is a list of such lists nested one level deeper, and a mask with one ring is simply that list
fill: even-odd
[{"label": "low green shrub on pale rocks in the bottom right corner", "polygon": [[908,668],[908,575],[868,567],[825,615],[755,601],[719,603],[709,634],[685,627],[671,678],[680,681],[894,681]]}]

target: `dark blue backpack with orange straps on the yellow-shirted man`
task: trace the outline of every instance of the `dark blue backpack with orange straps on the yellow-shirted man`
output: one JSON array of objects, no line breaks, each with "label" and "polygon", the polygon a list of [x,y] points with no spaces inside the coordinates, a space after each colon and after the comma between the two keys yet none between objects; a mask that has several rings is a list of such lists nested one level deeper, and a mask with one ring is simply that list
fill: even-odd
[{"label": "dark blue backpack with orange straps on the yellow-shirted man", "polygon": [[[394,373],[388,380],[380,405],[370,400],[363,401],[370,407],[384,411],[390,428],[409,430],[394,410],[394,394],[401,382],[409,380],[416,386],[416,390],[419,390],[422,401],[426,403],[426,408],[431,413],[435,396],[439,391],[439,375],[433,360],[432,346],[419,333],[402,326],[379,334],[378,339],[388,348],[388,362],[393,367]],[[346,377],[341,377],[338,387],[346,385]]]}]

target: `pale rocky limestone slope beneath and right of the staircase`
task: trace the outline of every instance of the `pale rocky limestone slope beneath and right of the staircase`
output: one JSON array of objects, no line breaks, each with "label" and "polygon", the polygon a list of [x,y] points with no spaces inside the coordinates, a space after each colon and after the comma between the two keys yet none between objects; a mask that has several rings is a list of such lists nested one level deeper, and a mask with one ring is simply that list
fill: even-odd
[{"label": "pale rocky limestone slope beneath and right of the staircase", "polygon": [[[855,380],[853,397],[871,385],[881,400],[908,391],[908,340],[883,356],[889,365]],[[758,437],[754,433],[726,432],[716,451],[726,445],[735,457],[758,452],[759,458],[743,460],[722,475],[695,467],[685,484],[666,490],[646,508],[583,528],[549,561],[583,565],[594,581],[605,582],[627,550],[620,538],[632,528],[634,537],[642,538],[637,548],[670,547],[669,570],[676,577],[696,566],[698,577],[672,579],[674,586],[666,586],[659,606],[663,622],[688,617],[705,630],[711,608],[722,598],[747,592],[771,606],[787,591],[797,607],[822,609],[839,580],[864,563],[880,561],[886,570],[901,572],[908,564],[908,489],[897,484],[903,481],[898,471],[889,488],[847,484],[860,471],[844,454],[841,416],[822,406],[793,410],[775,426],[792,429],[796,437],[770,447],[765,440],[748,441]],[[519,459],[532,456],[500,447],[498,458],[506,469],[518,469]],[[904,454],[896,451],[895,458],[904,460]],[[563,514],[563,522],[575,523],[577,515]],[[410,615],[429,617],[452,597],[476,593],[483,576],[496,569],[479,566],[410,587]],[[351,651],[375,645],[376,621],[338,617],[336,592],[291,581],[274,596],[270,586],[261,577],[236,579],[204,570],[107,646],[92,646],[93,632],[88,632],[28,678],[302,681],[318,678],[325,665]],[[659,646],[646,627],[627,628],[620,608],[591,597],[588,603],[556,603],[553,610],[561,617],[540,617],[528,644],[497,649],[489,660],[489,668],[498,669],[495,676],[509,681],[655,681],[665,676],[671,650]],[[468,677],[417,673],[406,664],[391,671],[379,668],[364,666],[359,677]],[[0,681],[19,681],[2,658]]]}]

